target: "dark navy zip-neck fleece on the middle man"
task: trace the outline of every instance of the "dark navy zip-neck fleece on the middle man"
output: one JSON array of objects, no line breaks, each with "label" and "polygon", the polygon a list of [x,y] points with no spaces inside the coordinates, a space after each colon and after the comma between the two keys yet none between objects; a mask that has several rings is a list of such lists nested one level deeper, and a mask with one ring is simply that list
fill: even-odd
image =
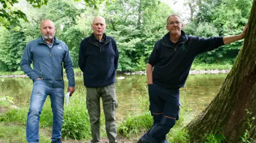
[{"label": "dark navy zip-neck fleece on the middle man", "polygon": [[81,41],[78,65],[83,72],[85,87],[103,87],[115,82],[118,67],[116,41],[103,33],[100,43],[92,33]]}]

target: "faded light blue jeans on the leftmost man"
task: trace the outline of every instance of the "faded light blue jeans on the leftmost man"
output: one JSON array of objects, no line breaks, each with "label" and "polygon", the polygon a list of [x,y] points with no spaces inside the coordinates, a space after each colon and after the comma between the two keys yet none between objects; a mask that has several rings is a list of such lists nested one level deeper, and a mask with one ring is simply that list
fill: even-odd
[{"label": "faded light blue jeans on the leftmost man", "polygon": [[39,141],[39,118],[47,95],[50,95],[53,113],[52,141],[61,139],[64,111],[64,89],[51,88],[46,85],[44,80],[36,80],[31,92],[26,125],[26,138],[29,143]]}]

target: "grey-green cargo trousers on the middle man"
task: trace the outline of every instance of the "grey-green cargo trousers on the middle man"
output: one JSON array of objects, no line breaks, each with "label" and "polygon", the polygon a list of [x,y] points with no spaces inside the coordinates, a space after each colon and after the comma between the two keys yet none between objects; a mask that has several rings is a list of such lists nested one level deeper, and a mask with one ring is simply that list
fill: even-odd
[{"label": "grey-green cargo trousers on the middle man", "polygon": [[86,107],[90,116],[92,132],[91,143],[100,142],[100,97],[105,114],[105,125],[109,143],[116,143],[117,129],[115,116],[118,102],[115,83],[105,87],[86,87]]}]

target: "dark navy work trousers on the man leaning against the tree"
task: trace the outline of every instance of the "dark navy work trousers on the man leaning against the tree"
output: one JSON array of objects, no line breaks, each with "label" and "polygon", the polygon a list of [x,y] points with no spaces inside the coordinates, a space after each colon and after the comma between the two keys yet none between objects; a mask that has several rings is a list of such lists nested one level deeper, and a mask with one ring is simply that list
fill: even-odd
[{"label": "dark navy work trousers on the man leaning against the tree", "polygon": [[148,86],[153,126],[141,137],[143,142],[166,142],[166,134],[174,126],[179,112],[180,90],[156,84]]}]

